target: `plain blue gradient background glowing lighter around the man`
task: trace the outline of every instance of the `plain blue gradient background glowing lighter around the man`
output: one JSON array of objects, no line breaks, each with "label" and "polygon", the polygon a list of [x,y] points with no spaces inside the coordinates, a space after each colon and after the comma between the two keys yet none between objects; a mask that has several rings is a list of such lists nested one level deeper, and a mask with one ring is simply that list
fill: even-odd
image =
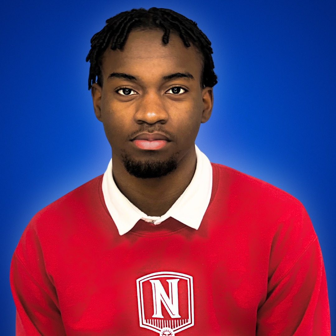
[{"label": "plain blue gradient background glowing lighter around the man", "polygon": [[1,334],[14,334],[9,264],[30,218],[103,173],[110,158],[87,90],[90,38],[118,12],[151,6],[190,17],[212,41],[219,83],[197,144],[211,161],[304,204],[321,244],[335,315],[335,2],[96,3],[2,6]]}]

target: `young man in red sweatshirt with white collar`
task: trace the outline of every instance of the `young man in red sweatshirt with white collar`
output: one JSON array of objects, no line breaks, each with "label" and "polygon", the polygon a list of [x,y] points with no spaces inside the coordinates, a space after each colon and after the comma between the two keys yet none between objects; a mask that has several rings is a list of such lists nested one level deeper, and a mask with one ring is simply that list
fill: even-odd
[{"label": "young man in red sweatshirt with white collar", "polygon": [[330,335],[303,206],[195,146],[217,82],[210,45],[157,8],[93,36],[112,160],[27,226],[10,273],[17,335]]}]

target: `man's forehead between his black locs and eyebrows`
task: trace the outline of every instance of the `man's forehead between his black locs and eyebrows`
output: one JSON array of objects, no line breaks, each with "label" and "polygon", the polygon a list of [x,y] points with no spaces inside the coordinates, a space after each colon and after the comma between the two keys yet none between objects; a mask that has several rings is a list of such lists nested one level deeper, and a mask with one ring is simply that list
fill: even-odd
[{"label": "man's forehead between his black locs and eyebrows", "polygon": [[189,72],[200,78],[202,57],[191,45],[185,47],[179,36],[171,32],[169,43],[162,43],[161,30],[131,31],[123,50],[108,48],[102,57],[103,76],[112,72],[147,76]]}]

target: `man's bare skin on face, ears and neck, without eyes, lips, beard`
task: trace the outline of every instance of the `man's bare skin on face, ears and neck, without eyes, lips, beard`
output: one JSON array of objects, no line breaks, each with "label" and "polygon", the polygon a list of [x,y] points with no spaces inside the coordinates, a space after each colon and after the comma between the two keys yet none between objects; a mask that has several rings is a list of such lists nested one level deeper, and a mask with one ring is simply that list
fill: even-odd
[{"label": "man's bare skin on face, ears and neck, without eyes, lips, beard", "polygon": [[[114,180],[149,216],[165,214],[192,180],[195,139],[213,106],[212,88],[200,84],[202,60],[196,48],[185,47],[173,32],[164,45],[162,34],[161,30],[134,30],[122,51],[108,48],[102,57],[102,87],[93,84],[91,89],[95,115],[103,123],[112,148]],[[112,73],[128,74],[136,80],[110,76]],[[164,79],[176,73],[191,74],[193,79]],[[174,87],[184,90],[171,90]],[[132,138],[143,132],[159,132],[170,141],[159,150],[139,149]],[[138,178],[126,171],[125,154],[140,162],[175,157],[177,168],[166,176]]]}]

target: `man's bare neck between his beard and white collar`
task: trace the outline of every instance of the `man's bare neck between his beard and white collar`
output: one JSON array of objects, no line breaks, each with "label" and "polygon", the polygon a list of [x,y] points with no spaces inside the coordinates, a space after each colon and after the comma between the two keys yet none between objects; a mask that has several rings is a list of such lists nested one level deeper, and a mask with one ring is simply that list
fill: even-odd
[{"label": "man's bare neck between his beard and white collar", "polygon": [[195,170],[195,148],[179,160],[174,171],[158,178],[132,176],[122,162],[112,157],[113,178],[119,190],[148,216],[164,215],[189,185]]}]

